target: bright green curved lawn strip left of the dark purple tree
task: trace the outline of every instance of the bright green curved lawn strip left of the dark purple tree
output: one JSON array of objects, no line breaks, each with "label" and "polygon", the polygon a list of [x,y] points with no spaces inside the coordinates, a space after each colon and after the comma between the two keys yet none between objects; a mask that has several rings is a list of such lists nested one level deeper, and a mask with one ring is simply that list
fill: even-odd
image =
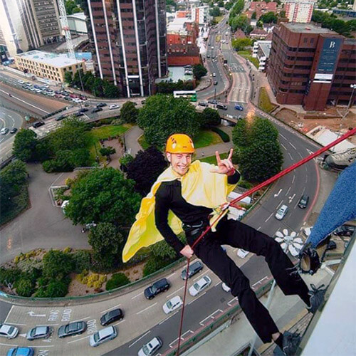
[{"label": "bright green curved lawn strip left of the dark purple tree", "polygon": [[[130,124],[124,125],[106,125],[101,127],[94,127],[88,132],[88,146],[90,151],[90,161],[93,164],[95,162],[95,157],[97,155],[100,159],[105,159],[99,153],[100,143],[99,140],[105,140],[108,137],[115,137],[117,135],[122,135],[125,131],[129,130],[132,127]],[[96,150],[95,150],[96,146]]]}]

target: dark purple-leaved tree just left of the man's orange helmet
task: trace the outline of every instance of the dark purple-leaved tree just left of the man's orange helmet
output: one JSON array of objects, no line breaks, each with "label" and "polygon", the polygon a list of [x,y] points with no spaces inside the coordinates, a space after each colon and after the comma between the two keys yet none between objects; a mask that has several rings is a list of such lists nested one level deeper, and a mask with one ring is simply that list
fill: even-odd
[{"label": "dark purple-leaved tree just left of the man's orange helmet", "polygon": [[132,162],[127,164],[127,178],[136,182],[137,192],[146,195],[166,167],[167,161],[162,152],[151,146],[145,151],[139,151]]}]

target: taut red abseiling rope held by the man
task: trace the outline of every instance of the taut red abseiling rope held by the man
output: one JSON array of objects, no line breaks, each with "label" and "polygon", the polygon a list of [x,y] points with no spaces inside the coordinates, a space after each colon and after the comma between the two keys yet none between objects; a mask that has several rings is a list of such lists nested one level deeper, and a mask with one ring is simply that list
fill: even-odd
[{"label": "taut red abseiling rope held by the man", "polygon": [[[249,189],[247,192],[244,192],[244,194],[242,194],[240,197],[230,201],[228,204],[226,204],[226,206],[224,207],[224,210],[226,210],[229,206],[234,206],[234,204],[237,201],[240,201],[241,199],[244,199],[246,197],[248,197],[248,195],[257,192],[259,189],[266,187],[266,185],[271,184],[273,182],[275,182],[277,179],[285,176],[286,174],[288,174],[289,172],[293,171],[295,168],[300,167],[302,164],[305,164],[306,162],[309,162],[311,159],[318,157],[319,155],[321,155],[323,152],[329,150],[330,147],[333,147],[335,145],[337,145],[338,143],[342,142],[343,140],[346,140],[347,137],[350,137],[352,135],[356,134],[356,127],[353,128],[352,130],[349,130],[348,132],[345,133],[345,135],[340,136],[337,140],[331,142],[329,145],[326,145],[325,147],[320,148],[320,150],[312,153],[311,155],[309,155],[308,157],[305,157],[303,159],[300,159],[299,162],[292,164],[290,167],[283,169],[282,172],[279,172],[277,174],[275,174],[273,177],[267,179],[265,182],[262,182],[258,185],[256,185],[256,187],[253,187],[251,189]],[[221,218],[221,215],[224,214],[224,211],[221,211],[221,213],[219,214],[219,216],[217,216],[217,218],[214,220],[214,222],[211,224],[214,226],[214,224],[216,224],[219,219]],[[194,244],[192,244],[192,248],[194,248],[194,246],[197,246],[197,244],[199,243],[199,241],[201,239],[203,239],[203,237],[211,230],[211,226],[207,226],[206,229],[201,233],[201,235],[199,236],[199,238],[197,240],[194,241]],[[184,286],[184,297],[183,297],[183,306],[182,306],[182,315],[181,315],[181,319],[180,319],[180,325],[179,325],[179,337],[178,337],[178,346],[177,346],[177,356],[179,356],[179,347],[180,347],[180,340],[182,337],[182,327],[183,327],[183,317],[184,317],[184,305],[185,305],[185,298],[187,295],[187,285],[188,285],[188,273],[189,273],[189,261],[190,258],[187,258],[187,278],[185,280],[185,286]]]}]

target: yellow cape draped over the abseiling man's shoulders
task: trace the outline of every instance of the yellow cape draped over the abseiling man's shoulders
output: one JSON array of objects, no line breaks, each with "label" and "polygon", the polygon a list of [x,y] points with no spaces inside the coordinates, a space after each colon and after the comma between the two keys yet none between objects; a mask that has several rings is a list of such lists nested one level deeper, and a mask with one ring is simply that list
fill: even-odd
[{"label": "yellow cape draped over the abseiling man's shoulders", "polygon": [[[236,187],[236,184],[227,183],[226,174],[210,172],[212,168],[214,168],[212,164],[194,161],[187,174],[184,174],[181,178],[182,197],[190,204],[216,209],[221,204],[226,203],[227,195]],[[177,179],[177,175],[174,174],[171,167],[168,167],[159,175],[147,197],[142,199],[140,211],[136,215],[136,221],[130,229],[130,234],[122,251],[123,262],[129,261],[140,248],[163,240],[163,236],[159,233],[155,224],[155,194],[162,182],[171,182],[175,179]],[[214,220],[216,220],[216,214],[210,222]],[[183,231],[182,221],[170,210],[168,224],[174,234]],[[216,224],[212,227],[214,228]]]}]

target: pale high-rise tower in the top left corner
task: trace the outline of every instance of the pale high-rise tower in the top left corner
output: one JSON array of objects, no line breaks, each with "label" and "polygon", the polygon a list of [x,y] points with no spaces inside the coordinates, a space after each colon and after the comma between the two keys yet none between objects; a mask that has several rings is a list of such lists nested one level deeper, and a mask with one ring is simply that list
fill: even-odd
[{"label": "pale high-rise tower in the top left corner", "polygon": [[63,38],[56,0],[1,0],[0,16],[10,56]]}]

